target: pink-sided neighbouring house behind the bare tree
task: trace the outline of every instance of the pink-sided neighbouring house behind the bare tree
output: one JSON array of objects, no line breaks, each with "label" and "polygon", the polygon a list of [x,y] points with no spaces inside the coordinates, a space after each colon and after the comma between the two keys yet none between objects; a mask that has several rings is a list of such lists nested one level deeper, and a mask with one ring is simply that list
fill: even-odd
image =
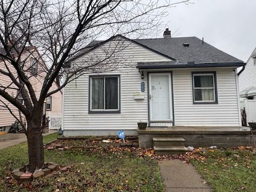
[{"label": "pink-sided neighbouring house behind the bare tree", "polygon": [[[3,50],[1,50],[3,52]],[[35,65],[35,59],[41,60],[41,63],[44,63],[42,60],[42,57],[40,57],[37,49],[34,46],[29,46],[27,49],[25,49],[24,53],[22,53],[22,57],[28,57],[26,59],[25,67],[30,68],[29,69],[29,74],[31,75],[30,82],[33,86],[33,89],[35,90],[36,97],[37,99],[39,98],[40,91],[42,89],[43,85],[43,79],[44,76],[46,75],[45,70],[42,68],[41,65]],[[10,70],[12,70],[12,66],[8,64],[8,67]],[[46,67],[46,65],[45,65]],[[6,71],[6,67],[4,64],[4,61],[0,61],[0,68]],[[13,71],[15,71],[13,69]],[[13,72],[16,74],[15,72]],[[38,74],[38,75],[33,75],[33,74]],[[11,79],[2,73],[0,73],[0,85],[5,87],[7,85],[10,85]],[[11,86],[10,89],[7,91],[11,95],[17,95],[17,90],[15,89],[17,87]],[[51,87],[51,90],[57,89],[57,84],[53,84]],[[23,103],[22,95],[20,94],[17,98],[21,103]],[[8,103],[3,97],[0,96],[0,100]],[[46,117],[52,114],[60,114],[61,115],[61,107],[62,107],[62,93],[57,92],[50,96],[49,98],[46,98]],[[9,104],[9,107],[12,109],[15,115],[18,115],[19,117],[19,112],[18,110]],[[0,105],[0,130],[2,132],[8,132],[10,126],[15,122],[15,118],[10,114],[9,110],[3,107],[3,105]]]}]

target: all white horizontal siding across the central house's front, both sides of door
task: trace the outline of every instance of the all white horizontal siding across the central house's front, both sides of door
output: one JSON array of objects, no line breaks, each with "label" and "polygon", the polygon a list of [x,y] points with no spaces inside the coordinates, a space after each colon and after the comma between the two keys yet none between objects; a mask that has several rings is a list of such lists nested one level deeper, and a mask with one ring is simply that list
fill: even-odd
[{"label": "all white horizontal siding across the central house's front, both sides of door", "polygon": [[[101,50],[94,50],[101,54]],[[63,94],[63,130],[136,130],[138,122],[148,122],[147,73],[141,79],[136,68],[141,61],[170,61],[138,45],[130,44],[122,51],[127,66],[101,75],[120,75],[120,114],[89,114],[89,75],[82,75],[65,87]],[[84,55],[76,62],[84,63]],[[163,70],[162,70],[163,71]],[[170,71],[170,70],[169,70]],[[173,72],[174,123],[187,126],[239,126],[236,73],[228,68],[175,69]],[[193,104],[192,71],[216,71],[218,103]],[[93,75],[93,74],[90,74]],[[98,74],[97,74],[98,75]],[[145,82],[144,100],[134,100]],[[172,123],[152,123],[151,126],[171,126]]]}]

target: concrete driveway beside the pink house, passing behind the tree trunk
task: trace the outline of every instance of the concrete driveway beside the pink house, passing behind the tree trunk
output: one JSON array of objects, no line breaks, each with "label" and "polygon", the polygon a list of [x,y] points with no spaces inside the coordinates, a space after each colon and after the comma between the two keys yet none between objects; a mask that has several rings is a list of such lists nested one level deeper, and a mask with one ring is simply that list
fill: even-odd
[{"label": "concrete driveway beside the pink house, passing behind the tree trunk", "polygon": [[[55,133],[57,130],[50,130],[49,133],[45,133],[44,135],[49,135],[51,133]],[[27,138],[24,133],[6,133],[0,135],[0,149],[4,149],[6,147],[18,145],[19,143],[26,142]]]}]

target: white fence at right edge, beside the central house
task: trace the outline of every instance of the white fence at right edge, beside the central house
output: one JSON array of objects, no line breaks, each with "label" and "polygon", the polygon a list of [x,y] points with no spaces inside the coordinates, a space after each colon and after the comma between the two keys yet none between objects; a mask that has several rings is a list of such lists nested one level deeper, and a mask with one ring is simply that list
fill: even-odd
[{"label": "white fence at right edge, beside the central house", "polygon": [[247,126],[249,126],[248,122],[256,122],[256,100],[255,99],[240,99],[240,107],[241,109],[245,108]]}]

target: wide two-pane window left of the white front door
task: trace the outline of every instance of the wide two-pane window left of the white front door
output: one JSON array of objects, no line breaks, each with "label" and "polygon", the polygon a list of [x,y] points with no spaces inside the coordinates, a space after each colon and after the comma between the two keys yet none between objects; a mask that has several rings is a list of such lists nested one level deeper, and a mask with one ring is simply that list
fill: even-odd
[{"label": "wide two-pane window left of the white front door", "polygon": [[90,77],[90,112],[119,112],[119,76]]}]

